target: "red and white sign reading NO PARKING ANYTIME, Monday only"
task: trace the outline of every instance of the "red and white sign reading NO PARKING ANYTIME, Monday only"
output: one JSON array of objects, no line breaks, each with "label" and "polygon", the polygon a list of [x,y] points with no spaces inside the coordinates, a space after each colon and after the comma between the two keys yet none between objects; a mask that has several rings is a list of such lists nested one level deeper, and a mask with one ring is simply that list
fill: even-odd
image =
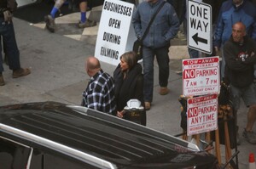
[{"label": "red and white sign reading NO PARKING ANYTIME, Monday only", "polygon": [[188,99],[187,134],[210,132],[218,128],[218,94]]}]

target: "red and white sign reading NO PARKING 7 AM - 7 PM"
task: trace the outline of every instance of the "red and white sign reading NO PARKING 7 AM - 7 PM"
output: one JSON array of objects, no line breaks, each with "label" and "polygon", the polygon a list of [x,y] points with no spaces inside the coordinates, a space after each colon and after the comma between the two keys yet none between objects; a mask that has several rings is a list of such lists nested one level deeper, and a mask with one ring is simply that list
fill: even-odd
[{"label": "red and white sign reading NO PARKING 7 AM - 7 PM", "polygon": [[218,93],[219,58],[183,59],[183,95]]}]

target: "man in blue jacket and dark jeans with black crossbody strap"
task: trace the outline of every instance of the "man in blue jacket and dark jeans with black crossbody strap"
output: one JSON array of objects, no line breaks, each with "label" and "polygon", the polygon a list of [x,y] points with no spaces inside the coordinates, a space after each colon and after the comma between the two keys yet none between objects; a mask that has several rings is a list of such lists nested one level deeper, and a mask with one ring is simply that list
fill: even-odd
[{"label": "man in blue jacket and dark jeans with black crossbody strap", "polygon": [[145,109],[151,108],[154,87],[154,56],[159,65],[160,95],[170,92],[169,78],[169,48],[170,40],[177,35],[179,20],[174,8],[164,0],[148,0],[139,3],[132,17],[132,24],[138,39],[143,36],[149,20],[162,3],[164,6],[156,14],[152,25],[143,39],[143,77]]}]

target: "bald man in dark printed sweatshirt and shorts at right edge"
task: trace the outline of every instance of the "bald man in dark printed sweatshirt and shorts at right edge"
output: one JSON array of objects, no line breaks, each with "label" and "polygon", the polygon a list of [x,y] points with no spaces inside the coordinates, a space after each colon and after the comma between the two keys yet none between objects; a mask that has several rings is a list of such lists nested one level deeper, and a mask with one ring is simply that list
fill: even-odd
[{"label": "bald man in dark printed sweatshirt and shorts at right edge", "polygon": [[247,37],[246,26],[237,22],[232,26],[230,40],[224,44],[225,81],[230,83],[231,99],[234,105],[236,120],[240,99],[248,107],[247,126],[242,135],[250,144],[256,144],[253,124],[256,120],[256,95],[253,87],[253,65],[256,64],[256,44]]}]

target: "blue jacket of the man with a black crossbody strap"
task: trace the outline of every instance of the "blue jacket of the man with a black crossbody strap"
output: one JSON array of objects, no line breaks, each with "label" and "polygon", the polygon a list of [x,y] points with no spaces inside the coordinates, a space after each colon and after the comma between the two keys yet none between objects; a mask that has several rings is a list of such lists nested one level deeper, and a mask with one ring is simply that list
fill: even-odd
[{"label": "blue jacket of the man with a black crossbody strap", "polygon": [[[158,0],[157,3],[151,4],[144,1],[137,6],[132,18],[137,37],[143,36],[148,22],[162,2],[163,0]],[[172,5],[166,3],[154,18],[147,36],[143,39],[143,45],[150,48],[161,48],[170,45],[170,40],[177,35],[178,29],[177,14]]]}]

